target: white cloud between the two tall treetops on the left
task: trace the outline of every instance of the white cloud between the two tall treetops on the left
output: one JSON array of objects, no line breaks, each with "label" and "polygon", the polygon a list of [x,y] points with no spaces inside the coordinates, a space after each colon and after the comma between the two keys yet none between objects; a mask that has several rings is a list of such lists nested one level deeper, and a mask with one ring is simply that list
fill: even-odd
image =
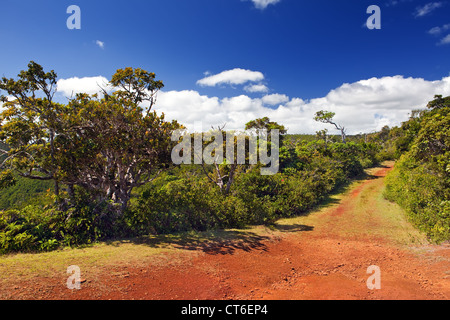
[{"label": "white cloud between the two tall treetops on the left", "polygon": [[101,93],[100,88],[106,88],[108,79],[102,76],[85,77],[85,78],[69,78],[60,79],[57,83],[58,92],[64,94],[66,97],[75,96],[77,93]]}]

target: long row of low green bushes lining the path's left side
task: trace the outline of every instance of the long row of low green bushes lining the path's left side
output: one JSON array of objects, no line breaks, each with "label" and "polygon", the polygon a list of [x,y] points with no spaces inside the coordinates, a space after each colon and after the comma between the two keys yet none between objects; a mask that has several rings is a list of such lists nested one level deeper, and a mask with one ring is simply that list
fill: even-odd
[{"label": "long row of low green bushes lining the path's left side", "polygon": [[[377,161],[374,143],[300,141],[283,147],[281,172],[239,172],[224,195],[197,167],[178,167],[136,190],[122,214],[111,201],[75,189],[60,210],[35,205],[3,212],[0,252],[46,251],[118,237],[270,225],[300,215]],[[64,196],[62,197],[64,198]],[[54,202],[54,199],[53,199]],[[52,203],[46,200],[45,203]],[[448,206],[446,207],[448,208]]]}]

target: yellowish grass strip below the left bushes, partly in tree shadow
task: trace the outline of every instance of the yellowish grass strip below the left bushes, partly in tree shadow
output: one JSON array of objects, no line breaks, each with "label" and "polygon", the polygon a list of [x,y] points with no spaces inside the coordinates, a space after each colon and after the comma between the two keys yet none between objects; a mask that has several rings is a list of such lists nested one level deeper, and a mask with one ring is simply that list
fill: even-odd
[{"label": "yellowish grass strip below the left bushes, partly in tree shadow", "polygon": [[248,230],[183,232],[151,235],[135,239],[96,243],[84,248],[64,248],[46,253],[17,253],[0,256],[0,285],[30,281],[34,277],[65,275],[67,267],[77,265],[83,274],[96,277],[121,266],[133,268],[179,265],[200,252],[226,252],[259,248],[272,231],[257,226]]}]

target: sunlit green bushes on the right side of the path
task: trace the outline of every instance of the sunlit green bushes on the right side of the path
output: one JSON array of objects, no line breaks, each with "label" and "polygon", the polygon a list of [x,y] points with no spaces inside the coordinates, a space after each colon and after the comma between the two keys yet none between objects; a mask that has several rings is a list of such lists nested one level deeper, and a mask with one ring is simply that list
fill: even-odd
[{"label": "sunlit green bushes on the right side of the path", "polygon": [[402,126],[409,151],[386,180],[386,197],[404,207],[412,222],[437,242],[450,239],[449,102],[437,96],[430,111]]}]

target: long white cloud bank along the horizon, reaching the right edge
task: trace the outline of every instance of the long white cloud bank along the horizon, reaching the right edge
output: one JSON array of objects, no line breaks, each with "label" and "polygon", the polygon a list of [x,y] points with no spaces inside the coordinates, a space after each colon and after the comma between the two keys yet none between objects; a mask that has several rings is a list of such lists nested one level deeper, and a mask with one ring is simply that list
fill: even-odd
[{"label": "long white cloud bank along the horizon, reaching the right edge", "polygon": [[[205,130],[225,123],[226,130],[240,130],[248,121],[267,116],[285,125],[289,133],[315,133],[323,128],[335,133],[333,127],[313,120],[315,112],[330,110],[349,134],[356,134],[380,130],[384,125],[400,125],[412,110],[424,108],[436,94],[450,95],[450,76],[437,81],[403,76],[372,78],[343,84],[325,97],[309,101],[281,94],[220,99],[192,90],[162,91],[154,110],[191,130],[198,121]],[[276,100],[278,106],[274,107]],[[268,104],[269,101],[274,104]]]}]

